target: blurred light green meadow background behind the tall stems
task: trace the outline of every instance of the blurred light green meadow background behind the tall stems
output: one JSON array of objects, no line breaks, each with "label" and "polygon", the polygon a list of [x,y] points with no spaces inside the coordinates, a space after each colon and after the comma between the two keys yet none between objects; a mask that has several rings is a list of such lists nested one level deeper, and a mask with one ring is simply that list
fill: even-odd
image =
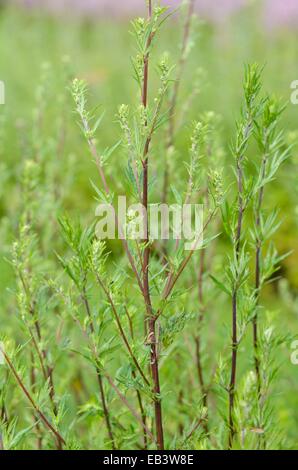
[{"label": "blurred light green meadow background behind the tall stems", "polygon": [[[94,178],[94,164],[80,136],[70,93],[65,88],[65,77],[66,81],[67,77],[70,79],[73,76],[85,79],[90,86],[91,104],[100,105],[100,109],[105,110],[98,134],[100,145],[104,148],[117,142],[120,138],[115,117],[118,106],[121,103],[133,104],[137,99],[130,61],[130,56],[134,54],[134,42],[128,31],[131,28],[129,20],[135,12],[138,15],[142,13],[144,2],[76,1],[75,6],[65,2],[68,4],[65,9],[61,8],[63,2],[53,1],[2,3],[0,80],[5,84],[5,105],[0,106],[0,318],[1,333],[9,336],[14,335],[18,324],[13,319],[14,275],[7,260],[22,203],[20,171],[24,160],[31,158],[35,151],[31,145],[34,141],[32,123],[37,119],[37,103],[43,99],[40,96],[42,76],[48,74],[50,83],[46,90],[48,95],[42,123],[43,129],[46,129],[47,152],[51,153],[51,136],[59,136],[62,149],[60,152],[53,144],[53,151],[57,152],[53,180],[60,188],[62,203],[52,214],[51,224],[56,225],[57,214],[65,211],[83,221],[90,221],[95,208],[94,191],[90,185],[90,178]],[[168,3],[175,7],[180,4],[176,1]],[[291,83],[298,80],[297,2],[198,1],[198,4],[195,44],[186,65],[179,106],[183,107],[197,83],[199,90],[181,125],[176,142],[177,152],[179,158],[184,160],[192,120],[212,110],[221,116],[221,140],[225,173],[228,174],[232,172],[229,153],[241,102],[244,64],[264,64],[264,89],[288,102],[283,116],[287,139],[294,142],[298,137],[298,106],[290,101],[293,91]],[[167,51],[171,61],[176,62],[181,26],[178,11],[161,32],[154,53],[156,58]],[[154,89],[157,77],[153,70],[152,80]],[[162,158],[162,149],[157,152],[157,157]],[[121,159],[121,150],[117,149],[109,170],[119,192],[123,175]],[[179,185],[184,170],[179,159],[175,165],[173,177],[175,184]],[[281,280],[266,288],[264,303],[270,308],[271,318],[278,330],[293,336],[298,334],[297,168],[298,150],[294,147],[290,159],[266,194],[267,207],[280,208],[282,224],[275,236],[276,246],[280,253],[291,253],[282,262]],[[158,174],[157,164],[156,176],[160,183]],[[54,251],[62,250],[63,246],[59,241],[58,228],[56,236],[58,241],[48,240],[48,243],[53,242],[53,257]],[[225,241],[220,243],[224,244]],[[117,247],[114,255],[117,256]],[[216,262],[220,271],[223,258],[217,258]],[[209,332],[206,333],[211,337],[210,349],[207,348],[210,356],[213,354],[212,348],[217,354],[216,345],[221,344],[224,328],[215,327],[218,325],[216,316],[221,316],[222,325],[229,322],[229,309],[227,307],[225,313],[225,301],[221,300],[219,293],[218,296],[222,307],[213,311]],[[16,341],[18,337],[16,333]],[[280,369],[274,402],[285,436],[284,447],[297,448],[298,366],[291,363],[290,356],[290,344],[278,351]],[[171,395],[169,398],[166,396],[169,403],[166,406],[170,407],[171,399]]]}]

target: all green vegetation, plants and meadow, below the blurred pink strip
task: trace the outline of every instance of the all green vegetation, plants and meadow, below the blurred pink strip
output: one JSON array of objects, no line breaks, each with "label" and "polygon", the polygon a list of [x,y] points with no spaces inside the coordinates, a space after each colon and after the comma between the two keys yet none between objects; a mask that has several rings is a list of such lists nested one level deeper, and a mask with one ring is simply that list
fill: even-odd
[{"label": "all green vegetation, plants and meadow, below the blurred pink strip", "polygon": [[[4,449],[297,448],[298,45],[192,6],[0,10]],[[204,204],[202,249],[98,240],[117,195]]]}]

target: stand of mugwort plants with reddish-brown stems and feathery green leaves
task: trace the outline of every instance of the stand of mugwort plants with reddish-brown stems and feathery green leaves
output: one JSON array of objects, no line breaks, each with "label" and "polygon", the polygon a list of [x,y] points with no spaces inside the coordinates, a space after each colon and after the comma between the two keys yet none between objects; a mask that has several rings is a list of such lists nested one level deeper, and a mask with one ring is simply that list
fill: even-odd
[{"label": "stand of mugwort plants with reddish-brown stems and feathery green leaves", "polygon": [[[248,64],[232,144],[215,112],[193,119],[205,80],[199,70],[183,87],[195,1],[185,2],[175,61],[159,56],[172,15],[147,0],[132,22],[135,88],[110,147],[105,115],[67,58],[59,119],[47,119],[53,70],[44,64],[31,132],[19,123],[19,212],[1,226],[15,279],[0,343],[3,449],[282,447],[270,398],[288,337],[263,299],[287,256],[274,245],[281,217],[268,197],[291,152],[285,106]],[[87,164],[66,144],[73,108],[96,200],[80,217],[66,215]]]}]

